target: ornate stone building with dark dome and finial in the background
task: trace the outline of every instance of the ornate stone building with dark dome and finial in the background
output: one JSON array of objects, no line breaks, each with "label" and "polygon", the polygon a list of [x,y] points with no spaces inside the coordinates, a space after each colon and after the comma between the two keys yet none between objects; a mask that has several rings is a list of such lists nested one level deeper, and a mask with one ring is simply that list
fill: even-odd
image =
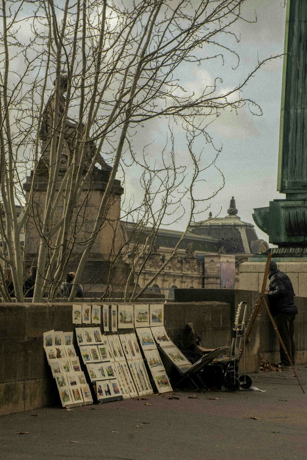
[{"label": "ornate stone building with dark dome and finial in the background", "polygon": [[[126,241],[130,241],[134,224],[122,222],[122,229]],[[147,230],[149,232],[150,228]],[[144,237],[146,233],[144,230]],[[145,254],[147,259],[137,282],[138,289],[143,288],[159,270],[181,236],[180,231],[158,230],[154,250],[149,257]],[[225,217],[213,218],[209,213],[208,220],[191,227],[176,255],[147,292],[162,293],[165,298],[171,299],[175,288],[236,288],[239,265],[253,254],[267,249],[268,244],[258,238],[254,225],[241,221],[232,197]],[[127,263],[131,265],[132,260],[127,260]],[[143,263],[140,259],[138,265]]]}]

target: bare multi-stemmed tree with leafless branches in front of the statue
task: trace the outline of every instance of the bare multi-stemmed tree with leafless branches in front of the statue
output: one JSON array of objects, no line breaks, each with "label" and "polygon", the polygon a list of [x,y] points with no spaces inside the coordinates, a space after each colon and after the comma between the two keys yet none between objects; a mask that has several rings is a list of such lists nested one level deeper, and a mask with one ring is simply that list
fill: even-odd
[{"label": "bare multi-stemmed tree with leafless branches in front of the statue", "polygon": [[[153,229],[133,258],[127,283],[131,276],[137,279],[136,267],[150,253],[159,226],[169,224],[169,209],[182,210],[185,202],[185,235],[195,213],[206,208],[202,201],[212,193],[200,181],[206,168],[215,165],[214,159],[202,163],[209,146],[215,148],[208,126],[220,111],[238,110],[247,102],[261,113],[241,90],[266,60],[224,92],[217,78],[195,94],[180,86],[178,75],[182,68],[189,72],[225,53],[238,59],[225,36],[234,36],[245,1],[1,0],[0,258],[12,272],[17,300],[23,299],[26,257],[21,235],[29,221],[39,241],[33,301],[41,301],[46,289],[50,298],[56,296],[72,259],[78,266],[69,300],[75,298],[97,235],[110,221],[121,172],[141,171],[144,200],[136,208],[146,204],[143,216]],[[168,154],[157,152],[155,158],[139,152],[135,141],[140,130],[145,133],[161,118],[185,134],[184,170],[174,142]],[[195,142],[196,151],[204,146],[203,153],[194,152]],[[101,154],[110,165],[108,181],[82,236],[95,165],[108,169]],[[37,206],[44,168],[46,190]],[[25,193],[22,184],[31,169]],[[156,191],[161,184],[166,184],[163,193]],[[17,203],[23,209],[19,217]],[[173,222],[177,219],[176,214]],[[110,248],[112,263],[118,261],[117,249]],[[1,270],[1,294],[7,299]]]}]

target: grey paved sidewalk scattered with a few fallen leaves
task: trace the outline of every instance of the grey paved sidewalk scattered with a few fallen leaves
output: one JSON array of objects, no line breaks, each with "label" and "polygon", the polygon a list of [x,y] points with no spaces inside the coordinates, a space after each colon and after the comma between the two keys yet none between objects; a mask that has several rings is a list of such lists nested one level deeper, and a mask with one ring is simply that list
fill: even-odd
[{"label": "grey paved sidewalk scattered with a few fallen leaves", "polygon": [[[297,372],[307,392],[307,368]],[[180,399],[151,396],[6,415],[0,417],[0,459],[301,460],[307,456],[307,394],[291,375],[253,375],[253,385],[265,393],[189,398],[194,393],[177,391]]]}]

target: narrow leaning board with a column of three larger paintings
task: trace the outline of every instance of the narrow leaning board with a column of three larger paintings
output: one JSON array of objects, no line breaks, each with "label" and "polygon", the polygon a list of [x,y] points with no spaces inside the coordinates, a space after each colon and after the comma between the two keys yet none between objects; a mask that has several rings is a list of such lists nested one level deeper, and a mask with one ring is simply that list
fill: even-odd
[{"label": "narrow leaning board with a column of three larger paintings", "polygon": [[159,393],[173,391],[172,386],[168,380],[168,375],[160,358],[158,349],[156,347],[155,339],[151,334],[151,329],[149,327],[137,328],[136,332],[138,334],[139,343],[144,352],[144,356],[146,358],[152,378],[155,382],[157,391]]}]

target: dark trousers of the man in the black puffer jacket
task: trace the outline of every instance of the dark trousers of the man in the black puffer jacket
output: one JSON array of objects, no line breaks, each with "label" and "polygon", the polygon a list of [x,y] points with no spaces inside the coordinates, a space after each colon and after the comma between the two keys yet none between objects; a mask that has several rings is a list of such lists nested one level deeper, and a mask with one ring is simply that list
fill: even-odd
[{"label": "dark trousers of the man in the black puffer jacket", "polygon": [[[282,341],[284,342],[284,346],[288,351],[288,355],[292,364],[295,364],[295,342],[294,342],[294,320],[295,315],[291,315],[288,313],[280,313],[276,316],[275,322],[278,328],[278,332]],[[285,366],[290,366],[290,362],[287,358],[287,355],[284,352],[283,347],[279,344],[279,351],[280,351],[280,362]]]}]

